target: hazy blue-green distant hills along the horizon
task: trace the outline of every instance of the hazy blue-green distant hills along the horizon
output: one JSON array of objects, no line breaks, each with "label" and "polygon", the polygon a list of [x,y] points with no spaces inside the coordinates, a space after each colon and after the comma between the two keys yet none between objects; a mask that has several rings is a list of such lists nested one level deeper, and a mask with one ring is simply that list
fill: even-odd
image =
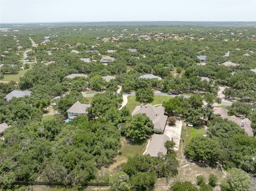
[{"label": "hazy blue-green distant hills along the horizon", "polygon": [[1,23],[0,28],[65,27],[65,26],[203,26],[203,27],[255,27],[256,22],[204,22],[204,21],[124,21],[124,22],[48,22]]}]

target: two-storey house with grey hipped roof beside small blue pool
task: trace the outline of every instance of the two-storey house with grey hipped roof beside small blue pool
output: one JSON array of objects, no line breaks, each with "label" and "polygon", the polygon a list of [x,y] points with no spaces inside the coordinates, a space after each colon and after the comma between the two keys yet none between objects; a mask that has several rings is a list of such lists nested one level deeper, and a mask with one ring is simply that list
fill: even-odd
[{"label": "two-storey house with grey hipped roof beside small blue pool", "polygon": [[83,104],[77,101],[67,110],[68,119],[74,119],[79,115],[86,115],[88,113],[87,108],[90,106],[91,104]]}]

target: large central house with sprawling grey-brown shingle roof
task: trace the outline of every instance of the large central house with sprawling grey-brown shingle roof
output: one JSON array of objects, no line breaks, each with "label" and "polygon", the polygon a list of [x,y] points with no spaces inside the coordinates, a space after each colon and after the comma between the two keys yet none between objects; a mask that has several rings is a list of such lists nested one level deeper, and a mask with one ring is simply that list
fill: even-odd
[{"label": "large central house with sprawling grey-brown shingle roof", "polygon": [[151,104],[136,106],[132,112],[132,116],[136,114],[144,113],[153,122],[154,129],[156,132],[164,132],[165,124],[167,121],[167,115],[164,115],[164,107],[154,107]]}]

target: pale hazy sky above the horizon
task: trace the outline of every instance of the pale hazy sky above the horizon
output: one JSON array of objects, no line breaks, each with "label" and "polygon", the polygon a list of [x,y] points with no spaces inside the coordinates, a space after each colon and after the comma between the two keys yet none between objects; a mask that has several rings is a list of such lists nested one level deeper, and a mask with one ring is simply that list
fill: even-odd
[{"label": "pale hazy sky above the horizon", "polygon": [[1,23],[256,21],[256,0],[0,0]]}]

